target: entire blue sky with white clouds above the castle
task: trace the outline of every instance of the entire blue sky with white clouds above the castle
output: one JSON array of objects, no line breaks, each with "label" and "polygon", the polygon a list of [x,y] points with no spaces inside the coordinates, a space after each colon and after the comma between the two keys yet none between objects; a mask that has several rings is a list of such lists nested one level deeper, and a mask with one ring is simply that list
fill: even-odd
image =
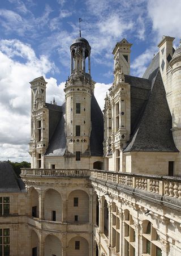
[{"label": "entire blue sky with white clouds above the castle", "polygon": [[177,0],[1,0],[0,160],[29,160],[29,81],[44,75],[47,101],[64,100],[70,72],[69,47],[81,33],[92,47],[91,74],[101,108],[113,81],[113,48],[132,43],[131,75],[143,75],[162,35],[181,35]]}]

